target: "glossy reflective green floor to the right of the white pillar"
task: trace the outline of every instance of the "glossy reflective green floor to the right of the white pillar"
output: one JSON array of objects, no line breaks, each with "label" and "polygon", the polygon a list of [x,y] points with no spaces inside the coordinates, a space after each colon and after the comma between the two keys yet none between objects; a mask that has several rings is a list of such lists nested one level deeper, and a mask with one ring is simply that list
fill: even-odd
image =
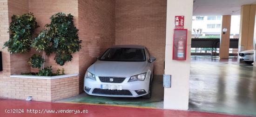
[{"label": "glossy reflective green floor to the right of the white pillar", "polygon": [[256,116],[256,67],[192,56],[190,68],[189,110]]}]

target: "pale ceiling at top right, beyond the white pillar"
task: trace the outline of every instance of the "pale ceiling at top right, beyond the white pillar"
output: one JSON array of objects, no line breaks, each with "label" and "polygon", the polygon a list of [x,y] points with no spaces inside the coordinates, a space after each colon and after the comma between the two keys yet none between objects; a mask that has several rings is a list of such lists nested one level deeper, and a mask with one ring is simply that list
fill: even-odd
[{"label": "pale ceiling at top right, beyond the white pillar", "polygon": [[256,0],[194,0],[193,16],[240,15],[243,5],[256,4]]}]

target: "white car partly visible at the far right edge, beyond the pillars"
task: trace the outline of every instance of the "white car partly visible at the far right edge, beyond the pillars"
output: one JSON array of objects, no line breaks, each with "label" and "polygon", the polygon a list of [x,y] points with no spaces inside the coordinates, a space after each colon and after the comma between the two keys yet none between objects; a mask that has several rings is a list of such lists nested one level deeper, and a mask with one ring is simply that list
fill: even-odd
[{"label": "white car partly visible at the far right edge, beyond the pillars", "polygon": [[241,56],[240,60],[244,61],[247,64],[251,64],[254,62],[254,60],[253,60],[254,50],[253,49],[239,52],[239,56]]}]

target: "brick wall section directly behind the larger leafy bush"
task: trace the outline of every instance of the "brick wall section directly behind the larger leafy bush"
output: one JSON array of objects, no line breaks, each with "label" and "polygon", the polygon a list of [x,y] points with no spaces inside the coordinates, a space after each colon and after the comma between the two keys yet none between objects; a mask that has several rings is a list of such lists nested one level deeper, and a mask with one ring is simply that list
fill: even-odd
[{"label": "brick wall section directly behind the larger leafy bush", "polygon": [[[36,21],[40,27],[36,30],[36,34],[46,25],[50,23],[50,17],[57,12],[71,13],[74,16],[74,24],[78,28],[78,0],[29,0],[29,12],[33,12]],[[37,52],[31,52],[31,55]],[[45,67],[52,66],[54,72],[58,68],[64,68],[66,74],[78,73],[78,52],[73,54],[71,62],[66,62],[64,66],[58,65],[54,60],[54,54],[46,56]],[[37,69],[33,69],[36,71]]]}]

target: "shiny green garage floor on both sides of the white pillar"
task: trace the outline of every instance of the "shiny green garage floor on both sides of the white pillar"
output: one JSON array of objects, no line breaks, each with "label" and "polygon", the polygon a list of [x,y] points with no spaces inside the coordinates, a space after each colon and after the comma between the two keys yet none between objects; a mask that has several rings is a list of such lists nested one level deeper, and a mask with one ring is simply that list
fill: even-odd
[{"label": "shiny green garage floor on both sides of the white pillar", "polygon": [[[191,56],[189,110],[256,116],[256,68],[235,57]],[[162,76],[154,77],[151,99],[78,96],[57,102],[163,108]]]}]

